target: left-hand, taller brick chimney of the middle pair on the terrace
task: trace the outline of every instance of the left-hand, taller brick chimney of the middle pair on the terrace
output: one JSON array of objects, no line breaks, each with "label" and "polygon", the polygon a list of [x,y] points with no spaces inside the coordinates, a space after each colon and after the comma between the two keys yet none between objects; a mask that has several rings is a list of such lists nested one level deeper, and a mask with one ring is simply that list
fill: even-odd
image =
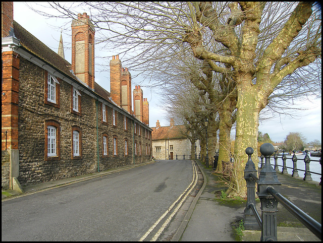
[{"label": "left-hand, taller brick chimney of the middle pair on the terrace", "polygon": [[112,56],[110,60],[110,96],[111,99],[121,105],[121,60],[119,55]]}]

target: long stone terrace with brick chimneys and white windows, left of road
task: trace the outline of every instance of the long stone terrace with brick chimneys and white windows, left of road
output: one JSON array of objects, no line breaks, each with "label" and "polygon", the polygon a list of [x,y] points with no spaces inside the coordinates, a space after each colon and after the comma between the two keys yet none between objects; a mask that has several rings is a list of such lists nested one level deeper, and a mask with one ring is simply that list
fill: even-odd
[{"label": "long stone terrace with brick chimneys and white windows, left of road", "polygon": [[[95,83],[95,30],[72,22],[72,64],[13,20],[2,2],[2,187],[26,186],[151,160],[147,99],[119,56],[111,92]],[[62,40],[62,39],[61,39]]]}]

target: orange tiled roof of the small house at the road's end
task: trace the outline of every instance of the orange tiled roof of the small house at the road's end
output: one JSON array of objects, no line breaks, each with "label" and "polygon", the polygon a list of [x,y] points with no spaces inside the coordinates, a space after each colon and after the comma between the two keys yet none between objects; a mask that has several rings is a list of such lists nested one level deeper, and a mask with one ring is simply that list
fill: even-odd
[{"label": "orange tiled roof of the small house at the road's end", "polygon": [[161,139],[179,139],[187,138],[187,130],[184,125],[172,126],[172,127],[158,127],[152,128],[151,137],[152,140]]}]

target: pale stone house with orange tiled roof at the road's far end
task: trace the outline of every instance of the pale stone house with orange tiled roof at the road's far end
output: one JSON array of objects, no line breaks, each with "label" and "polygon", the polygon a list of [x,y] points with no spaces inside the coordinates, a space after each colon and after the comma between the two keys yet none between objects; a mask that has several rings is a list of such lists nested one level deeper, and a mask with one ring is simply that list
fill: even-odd
[{"label": "pale stone house with orange tiled roof at the road's far end", "polygon": [[[174,119],[171,118],[170,126],[160,127],[159,120],[156,122],[156,127],[152,128],[152,156],[154,159],[185,159],[191,158],[191,149],[194,147],[194,153],[199,155],[200,144],[199,140],[192,145],[188,138],[189,132],[184,125],[174,124]],[[195,158],[195,155],[193,155]]]}]

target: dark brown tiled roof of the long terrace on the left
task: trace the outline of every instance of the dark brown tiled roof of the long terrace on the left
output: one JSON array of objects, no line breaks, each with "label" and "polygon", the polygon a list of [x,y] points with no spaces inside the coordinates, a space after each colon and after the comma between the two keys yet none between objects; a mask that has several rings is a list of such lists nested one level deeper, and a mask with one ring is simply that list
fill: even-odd
[{"label": "dark brown tiled roof of the long terrace on the left", "polygon": [[[51,50],[48,46],[38,40],[35,36],[30,34],[21,25],[14,21],[14,33],[17,39],[20,40],[20,44],[28,51],[38,56],[52,67],[64,73],[66,76],[72,78],[75,82],[78,80],[70,72],[71,64],[60,56],[55,51]],[[94,82],[94,90],[102,98],[109,101],[110,93],[103,89],[100,85]]]}]

